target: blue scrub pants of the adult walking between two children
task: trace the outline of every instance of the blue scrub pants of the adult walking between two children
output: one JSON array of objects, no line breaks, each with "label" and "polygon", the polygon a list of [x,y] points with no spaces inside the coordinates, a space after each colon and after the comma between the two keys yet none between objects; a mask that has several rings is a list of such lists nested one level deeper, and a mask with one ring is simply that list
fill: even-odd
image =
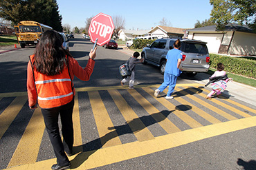
[{"label": "blue scrub pants of the adult walking between two children", "polygon": [[172,92],[174,92],[176,81],[177,76],[165,72],[165,74],[163,75],[163,83],[160,87],[158,87],[158,89],[160,90],[160,92],[163,92],[163,90],[169,85],[169,90],[166,96],[171,96]]}]

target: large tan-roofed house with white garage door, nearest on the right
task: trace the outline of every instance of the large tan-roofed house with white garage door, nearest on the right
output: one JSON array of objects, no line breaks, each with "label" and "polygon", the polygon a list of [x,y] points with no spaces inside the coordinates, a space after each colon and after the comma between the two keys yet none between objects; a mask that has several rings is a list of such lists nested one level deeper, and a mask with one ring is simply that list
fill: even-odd
[{"label": "large tan-roofed house with white garage door, nearest on the right", "polygon": [[223,31],[215,25],[187,31],[188,39],[207,42],[210,53],[256,56],[256,34],[247,25],[229,23]]}]

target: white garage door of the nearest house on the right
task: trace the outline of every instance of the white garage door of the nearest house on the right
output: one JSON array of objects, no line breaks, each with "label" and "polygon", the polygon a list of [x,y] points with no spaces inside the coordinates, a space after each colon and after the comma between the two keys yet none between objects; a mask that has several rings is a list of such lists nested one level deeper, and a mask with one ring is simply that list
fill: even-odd
[{"label": "white garage door of the nearest house on the right", "polygon": [[196,40],[207,42],[209,53],[218,53],[223,34],[194,34]]}]

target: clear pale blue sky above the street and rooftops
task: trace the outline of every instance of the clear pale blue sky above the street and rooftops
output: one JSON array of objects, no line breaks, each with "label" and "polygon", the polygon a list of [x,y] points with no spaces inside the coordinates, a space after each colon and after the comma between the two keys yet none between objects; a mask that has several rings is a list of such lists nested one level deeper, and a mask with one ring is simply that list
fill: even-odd
[{"label": "clear pale blue sky above the street and rooftops", "polygon": [[210,19],[209,0],[57,0],[62,25],[85,28],[87,18],[100,12],[125,19],[126,30],[151,30],[165,18],[174,28],[194,28]]}]

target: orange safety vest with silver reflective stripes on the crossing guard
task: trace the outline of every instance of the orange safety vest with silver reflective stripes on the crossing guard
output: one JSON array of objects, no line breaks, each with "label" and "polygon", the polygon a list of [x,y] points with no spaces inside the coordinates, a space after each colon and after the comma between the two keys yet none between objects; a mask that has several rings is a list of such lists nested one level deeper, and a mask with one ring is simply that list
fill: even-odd
[{"label": "orange safety vest with silver reflective stripes on the crossing guard", "polygon": [[[33,67],[34,56],[30,56]],[[67,59],[67,56],[66,56]],[[37,72],[33,67],[35,87],[37,90],[37,103],[41,108],[53,108],[65,105],[73,99],[73,87],[68,66],[64,66],[61,74],[47,76]]]}]

